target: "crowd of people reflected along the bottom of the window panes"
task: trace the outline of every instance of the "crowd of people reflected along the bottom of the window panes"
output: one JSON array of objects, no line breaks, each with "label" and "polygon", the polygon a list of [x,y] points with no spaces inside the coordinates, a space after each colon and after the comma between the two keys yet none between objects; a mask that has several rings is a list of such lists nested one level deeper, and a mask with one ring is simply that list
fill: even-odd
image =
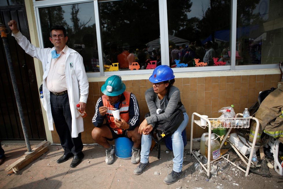
[{"label": "crowd of people reflected along the bottom of the window panes", "polygon": [[[174,43],[169,46],[170,67],[174,68],[177,64],[186,65],[185,67],[195,67],[195,59],[198,62],[203,62],[204,65],[214,66],[215,61],[229,60],[229,42],[207,41],[204,44],[200,40],[191,43],[184,43],[180,46]],[[128,70],[132,63],[137,62],[139,69],[146,69],[150,61],[156,61],[157,66],[161,65],[161,52],[158,48],[131,48],[128,43],[124,43],[123,47],[118,48],[116,43],[111,43],[108,50],[104,50],[104,65],[111,66],[112,63],[119,63],[119,69]],[[98,57],[97,57],[98,59]],[[214,60],[216,59],[216,60]],[[177,64],[176,64],[177,60]],[[98,62],[91,63],[92,70],[99,70],[95,68]],[[228,64],[225,64],[228,65]],[[86,70],[88,71],[88,70]]]}]

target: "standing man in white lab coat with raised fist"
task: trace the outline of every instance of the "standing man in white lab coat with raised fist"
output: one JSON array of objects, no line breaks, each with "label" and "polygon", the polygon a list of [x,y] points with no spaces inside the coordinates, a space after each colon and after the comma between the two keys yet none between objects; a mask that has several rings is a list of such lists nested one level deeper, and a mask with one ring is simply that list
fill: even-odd
[{"label": "standing man in white lab coat with raised fist", "polygon": [[53,118],[65,151],[57,163],[63,163],[74,156],[70,167],[76,167],[84,157],[81,140],[81,132],[84,131],[83,119],[76,110],[76,104],[80,104],[80,110],[83,112],[89,93],[82,57],[66,46],[68,37],[63,26],[54,26],[50,29],[49,40],[54,45],[53,48],[38,48],[22,35],[16,21],[11,20],[8,25],[12,30],[12,36],[23,50],[42,63],[44,97],[41,101],[47,112],[49,130],[54,130]]}]

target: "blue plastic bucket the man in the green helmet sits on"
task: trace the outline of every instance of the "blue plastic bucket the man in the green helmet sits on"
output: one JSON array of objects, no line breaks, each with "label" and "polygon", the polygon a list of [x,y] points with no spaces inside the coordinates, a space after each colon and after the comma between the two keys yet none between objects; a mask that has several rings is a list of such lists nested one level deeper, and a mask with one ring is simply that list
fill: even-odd
[{"label": "blue plastic bucket the man in the green helmet sits on", "polygon": [[127,137],[119,137],[115,139],[115,156],[126,159],[132,157],[133,141]]}]

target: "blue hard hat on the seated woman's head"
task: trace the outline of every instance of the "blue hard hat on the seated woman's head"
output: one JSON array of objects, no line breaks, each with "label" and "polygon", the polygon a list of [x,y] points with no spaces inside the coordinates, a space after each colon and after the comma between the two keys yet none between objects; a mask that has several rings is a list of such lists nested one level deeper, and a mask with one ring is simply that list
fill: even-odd
[{"label": "blue hard hat on the seated woman's head", "polygon": [[149,81],[152,83],[159,83],[161,81],[167,81],[174,79],[174,72],[173,70],[167,65],[157,66],[154,70],[152,75],[149,77]]}]

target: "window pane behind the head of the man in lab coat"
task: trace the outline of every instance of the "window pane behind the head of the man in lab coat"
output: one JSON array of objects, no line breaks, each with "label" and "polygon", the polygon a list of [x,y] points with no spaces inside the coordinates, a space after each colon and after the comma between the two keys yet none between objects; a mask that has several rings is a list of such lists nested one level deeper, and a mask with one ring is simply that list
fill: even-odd
[{"label": "window pane behind the head of the man in lab coat", "polygon": [[99,72],[93,2],[39,8],[44,47],[53,47],[49,29],[62,25],[67,30],[67,46],[79,52],[86,72]]}]

